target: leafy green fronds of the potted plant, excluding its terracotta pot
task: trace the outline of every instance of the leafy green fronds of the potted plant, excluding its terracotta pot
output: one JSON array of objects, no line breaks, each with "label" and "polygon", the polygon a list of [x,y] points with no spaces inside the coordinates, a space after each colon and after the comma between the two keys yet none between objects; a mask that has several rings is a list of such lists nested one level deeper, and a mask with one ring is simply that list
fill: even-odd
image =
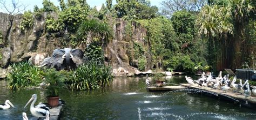
[{"label": "leafy green fronds of the potted plant, excluding its terracotta pot", "polygon": [[59,89],[64,87],[63,82],[66,77],[55,69],[47,69],[44,78],[47,96],[59,96]]}]

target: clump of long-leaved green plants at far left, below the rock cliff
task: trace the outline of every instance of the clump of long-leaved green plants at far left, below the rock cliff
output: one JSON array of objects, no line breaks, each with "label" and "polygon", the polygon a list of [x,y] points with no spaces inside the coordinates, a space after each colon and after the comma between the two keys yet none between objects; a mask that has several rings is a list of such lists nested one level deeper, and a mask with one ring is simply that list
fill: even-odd
[{"label": "clump of long-leaved green plants at far left, below the rock cliff", "polygon": [[6,80],[9,89],[20,89],[28,86],[37,86],[43,79],[43,71],[28,62],[11,65],[11,72]]}]

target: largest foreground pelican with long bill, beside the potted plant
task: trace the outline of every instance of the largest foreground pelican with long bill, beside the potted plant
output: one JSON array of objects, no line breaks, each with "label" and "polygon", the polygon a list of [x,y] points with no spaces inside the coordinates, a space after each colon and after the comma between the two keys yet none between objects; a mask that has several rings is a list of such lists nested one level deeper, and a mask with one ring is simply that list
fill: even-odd
[{"label": "largest foreground pelican with long bill, beside the potted plant", "polygon": [[[29,100],[28,103],[26,103],[26,106],[28,106],[28,104],[33,100],[33,102],[31,103],[30,105],[30,112],[33,116],[35,117],[45,117],[46,120],[49,120],[50,119],[50,111],[48,108],[46,107],[34,107],[34,104],[37,100],[37,95],[36,94],[33,94],[31,99]],[[25,106],[25,107],[26,107]],[[25,108],[24,107],[24,108]]]}]

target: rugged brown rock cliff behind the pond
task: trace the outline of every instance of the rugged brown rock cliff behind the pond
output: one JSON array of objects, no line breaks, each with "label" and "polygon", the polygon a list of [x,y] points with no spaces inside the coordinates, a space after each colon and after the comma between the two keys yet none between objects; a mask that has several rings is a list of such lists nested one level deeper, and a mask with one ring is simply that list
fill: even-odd
[{"label": "rugged brown rock cliff behind the pond", "polygon": [[[7,68],[10,63],[21,62],[30,59],[38,65],[44,57],[50,56],[56,48],[65,48],[60,46],[58,37],[49,37],[45,31],[45,19],[47,13],[42,13],[40,19],[34,19],[34,24],[30,29],[21,31],[19,25],[23,19],[22,14],[12,16],[6,13],[0,13],[0,28],[2,32],[2,60],[1,68]],[[56,14],[51,14],[56,16]],[[104,47],[105,63],[118,70],[119,67],[129,71],[129,73],[120,71],[119,75],[131,75],[130,72],[138,71],[138,58],[134,57],[133,43],[139,43],[145,50],[147,66],[145,70],[152,68],[149,45],[145,42],[146,29],[136,22],[127,22],[122,19],[113,20],[113,39]],[[77,48],[86,48],[86,46],[77,46]],[[38,55],[39,54],[39,55]],[[40,56],[40,57],[38,57]],[[39,62],[38,62],[39,61]],[[125,71],[123,70],[123,71]]]}]

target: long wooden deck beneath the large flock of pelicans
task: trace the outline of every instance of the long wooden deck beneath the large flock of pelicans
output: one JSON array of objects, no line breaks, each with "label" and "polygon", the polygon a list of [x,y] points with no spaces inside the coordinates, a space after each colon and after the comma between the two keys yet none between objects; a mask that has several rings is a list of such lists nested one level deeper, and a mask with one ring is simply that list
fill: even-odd
[{"label": "long wooden deck beneath the large flock of pelicans", "polygon": [[198,85],[191,85],[191,86],[189,84],[180,84],[180,85],[187,88],[199,89],[206,92],[210,92],[210,93],[216,94],[219,98],[222,97],[224,99],[237,100],[237,102],[240,102],[245,106],[248,106],[248,104],[249,106],[250,104],[253,104],[254,106],[256,105],[256,97],[254,96],[245,97],[245,95],[237,92],[232,92],[231,90],[226,91],[225,93],[220,89],[213,89],[210,87],[198,87]]}]

